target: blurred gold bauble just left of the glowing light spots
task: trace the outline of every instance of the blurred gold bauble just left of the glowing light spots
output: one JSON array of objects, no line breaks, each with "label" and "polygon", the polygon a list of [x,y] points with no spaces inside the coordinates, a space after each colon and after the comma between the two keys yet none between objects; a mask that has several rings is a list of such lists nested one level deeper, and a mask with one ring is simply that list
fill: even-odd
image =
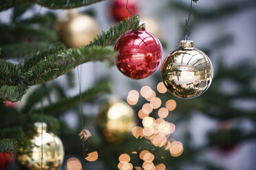
[{"label": "blurred gold bauble just left of the glowing light spots", "polygon": [[110,99],[100,106],[98,127],[109,143],[121,143],[136,126],[134,110],[124,101]]}]

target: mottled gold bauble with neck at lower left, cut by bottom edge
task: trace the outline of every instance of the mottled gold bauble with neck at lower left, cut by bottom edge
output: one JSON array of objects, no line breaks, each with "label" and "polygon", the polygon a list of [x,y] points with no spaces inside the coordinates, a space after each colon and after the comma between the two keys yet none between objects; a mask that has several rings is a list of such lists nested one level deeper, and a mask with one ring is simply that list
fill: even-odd
[{"label": "mottled gold bauble with neck at lower left, cut by bottom edge", "polygon": [[[46,123],[43,123],[43,131],[41,129],[41,122],[34,123],[34,127],[35,133],[22,143],[17,160],[27,169],[41,169],[41,145],[43,144],[42,168],[45,170],[58,169],[58,167],[61,167],[64,158],[64,149],[61,139],[52,133],[46,132]],[[43,132],[43,138],[41,132]]]}]

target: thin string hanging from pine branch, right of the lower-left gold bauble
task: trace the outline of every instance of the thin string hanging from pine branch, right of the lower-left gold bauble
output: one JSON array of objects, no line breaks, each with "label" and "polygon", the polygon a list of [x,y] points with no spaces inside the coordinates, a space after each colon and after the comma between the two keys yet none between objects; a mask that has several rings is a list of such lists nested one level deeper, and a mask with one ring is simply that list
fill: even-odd
[{"label": "thin string hanging from pine branch, right of the lower-left gold bauble", "polygon": [[[77,67],[77,74],[78,74],[78,85],[79,85],[79,99],[80,99],[80,106],[79,106],[79,112],[81,116],[81,130],[83,131],[83,104],[82,104],[82,92],[81,92],[81,87],[82,87],[82,67],[78,66]],[[83,140],[83,169],[85,169],[85,141]]]}]

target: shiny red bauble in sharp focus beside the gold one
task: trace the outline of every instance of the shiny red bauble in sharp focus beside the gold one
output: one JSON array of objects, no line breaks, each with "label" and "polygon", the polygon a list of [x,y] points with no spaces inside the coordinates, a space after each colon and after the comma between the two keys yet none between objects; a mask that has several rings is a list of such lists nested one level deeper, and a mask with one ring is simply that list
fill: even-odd
[{"label": "shiny red bauble in sharp focus beside the gold one", "polygon": [[115,49],[119,53],[118,69],[133,79],[152,75],[162,61],[162,45],[145,27],[122,35],[116,42]]}]

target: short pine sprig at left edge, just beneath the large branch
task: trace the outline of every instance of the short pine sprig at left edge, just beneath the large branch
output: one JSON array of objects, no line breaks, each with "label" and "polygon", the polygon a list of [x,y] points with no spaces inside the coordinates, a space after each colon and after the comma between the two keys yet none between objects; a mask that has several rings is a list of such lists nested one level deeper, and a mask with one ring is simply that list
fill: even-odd
[{"label": "short pine sprig at left edge, just beneath the large branch", "polygon": [[0,86],[0,101],[20,101],[25,94],[25,90],[25,84],[17,84],[16,86],[3,84]]}]

